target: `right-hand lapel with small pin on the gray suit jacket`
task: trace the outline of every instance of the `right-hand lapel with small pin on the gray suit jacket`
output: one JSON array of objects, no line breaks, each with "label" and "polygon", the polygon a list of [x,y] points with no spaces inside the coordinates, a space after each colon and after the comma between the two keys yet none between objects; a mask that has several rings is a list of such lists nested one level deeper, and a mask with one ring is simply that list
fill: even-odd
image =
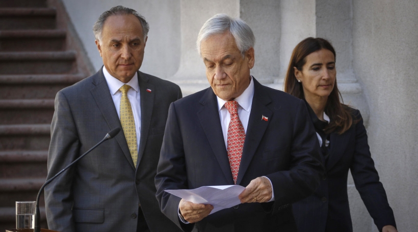
[{"label": "right-hand lapel with small pin on the gray suit jacket", "polygon": [[[138,72],[138,83],[141,95],[141,138],[138,150],[138,164],[144,154],[145,145],[147,143],[149,125],[151,125],[152,109],[154,106],[155,89],[154,85],[148,83],[149,78]],[[151,92],[148,92],[149,89]]]}]

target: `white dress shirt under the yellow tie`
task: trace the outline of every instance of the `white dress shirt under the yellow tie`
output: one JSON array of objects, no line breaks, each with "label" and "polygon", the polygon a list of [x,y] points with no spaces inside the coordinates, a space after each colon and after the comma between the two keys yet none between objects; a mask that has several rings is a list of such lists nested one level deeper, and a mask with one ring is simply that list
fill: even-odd
[{"label": "white dress shirt under the yellow tie", "polygon": [[[120,120],[120,99],[122,98],[122,92],[120,92],[119,89],[125,83],[110,75],[105,66],[103,66],[103,74],[105,75],[106,82],[108,82],[109,91]],[[126,84],[130,86],[127,96],[130,106],[132,107],[132,112],[134,113],[135,129],[137,132],[137,148],[139,149],[139,140],[141,138],[141,96],[139,93],[138,73],[136,72],[134,77],[132,77],[132,79],[130,79]]]}]

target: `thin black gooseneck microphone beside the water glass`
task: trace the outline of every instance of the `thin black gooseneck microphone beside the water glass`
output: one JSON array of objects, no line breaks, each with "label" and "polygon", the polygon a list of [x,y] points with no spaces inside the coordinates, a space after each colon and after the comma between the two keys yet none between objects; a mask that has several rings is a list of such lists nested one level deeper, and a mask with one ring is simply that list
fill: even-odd
[{"label": "thin black gooseneck microphone beside the water glass", "polygon": [[120,128],[115,128],[113,130],[111,130],[109,133],[106,134],[105,138],[103,138],[100,142],[98,142],[96,145],[94,145],[94,147],[90,148],[90,150],[88,150],[86,153],[84,153],[83,155],[81,155],[79,158],[77,158],[76,160],[72,161],[72,163],[68,164],[68,166],[64,167],[64,169],[62,169],[60,172],[58,172],[54,177],[52,177],[51,179],[47,180],[45,182],[45,184],[42,185],[41,189],[38,192],[38,196],[36,197],[36,208],[35,208],[35,232],[41,232],[41,226],[40,226],[40,222],[41,222],[41,212],[39,211],[39,197],[41,196],[42,190],[45,188],[45,186],[47,184],[49,184],[51,181],[53,181],[55,178],[57,178],[58,176],[61,175],[61,173],[63,173],[65,170],[67,170],[69,167],[71,167],[74,163],[76,163],[77,161],[79,161],[81,158],[83,158],[85,155],[89,154],[89,152],[91,152],[93,149],[95,149],[97,146],[99,146],[102,142],[111,139],[113,137],[115,137],[120,131]]}]

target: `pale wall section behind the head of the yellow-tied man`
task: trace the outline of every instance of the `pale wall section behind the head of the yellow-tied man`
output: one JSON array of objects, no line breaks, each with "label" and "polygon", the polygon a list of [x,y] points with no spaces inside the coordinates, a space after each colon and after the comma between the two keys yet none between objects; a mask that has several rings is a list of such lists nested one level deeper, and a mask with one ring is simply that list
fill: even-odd
[{"label": "pale wall section behind the head of the yellow-tied man", "polygon": [[102,65],[94,43],[93,24],[101,13],[114,6],[137,10],[149,23],[141,71],[167,78],[180,63],[180,0],[62,0],[75,31],[96,70]]}]

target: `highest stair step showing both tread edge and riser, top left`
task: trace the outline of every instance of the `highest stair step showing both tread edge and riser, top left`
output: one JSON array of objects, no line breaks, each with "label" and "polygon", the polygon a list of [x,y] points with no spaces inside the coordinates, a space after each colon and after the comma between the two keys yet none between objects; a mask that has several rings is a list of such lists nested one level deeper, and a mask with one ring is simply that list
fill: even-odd
[{"label": "highest stair step showing both tread edge and riser, top left", "polygon": [[0,30],[54,29],[55,8],[0,8]]}]

